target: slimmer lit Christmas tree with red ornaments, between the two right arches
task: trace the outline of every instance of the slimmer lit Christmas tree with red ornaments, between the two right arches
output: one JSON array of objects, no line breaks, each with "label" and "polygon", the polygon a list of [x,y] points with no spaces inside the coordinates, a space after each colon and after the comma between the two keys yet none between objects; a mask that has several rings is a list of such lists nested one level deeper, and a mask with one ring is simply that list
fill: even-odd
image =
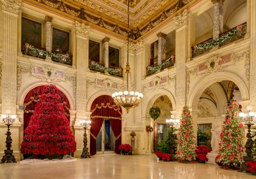
[{"label": "slimmer lit Christmas tree with red ornaments, between the two right arches", "polygon": [[196,139],[191,120],[192,116],[188,107],[183,107],[176,152],[176,158],[181,162],[190,162],[196,159]]}]

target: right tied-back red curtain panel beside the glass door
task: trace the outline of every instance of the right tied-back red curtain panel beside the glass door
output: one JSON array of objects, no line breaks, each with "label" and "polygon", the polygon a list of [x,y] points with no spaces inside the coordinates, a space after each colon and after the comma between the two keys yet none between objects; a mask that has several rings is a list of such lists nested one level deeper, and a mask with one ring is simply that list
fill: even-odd
[{"label": "right tied-back red curtain panel beside the glass door", "polygon": [[118,154],[118,147],[121,145],[121,133],[122,133],[122,121],[116,120],[116,119],[110,119],[110,124],[112,131],[114,133],[114,136],[116,138],[116,144],[115,144],[115,152]]}]

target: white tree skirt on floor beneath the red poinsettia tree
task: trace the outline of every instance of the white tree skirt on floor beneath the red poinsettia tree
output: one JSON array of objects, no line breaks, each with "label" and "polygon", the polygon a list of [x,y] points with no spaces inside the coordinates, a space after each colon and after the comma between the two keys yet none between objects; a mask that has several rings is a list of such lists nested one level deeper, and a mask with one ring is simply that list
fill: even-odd
[{"label": "white tree skirt on floor beneath the red poinsettia tree", "polygon": [[77,159],[74,158],[71,155],[64,155],[62,159],[44,159],[44,160],[39,160],[39,159],[25,159],[23,161],[20,161],[20,164],[49,164],[49,163],[58,163],[58,162],[74,162]]}]

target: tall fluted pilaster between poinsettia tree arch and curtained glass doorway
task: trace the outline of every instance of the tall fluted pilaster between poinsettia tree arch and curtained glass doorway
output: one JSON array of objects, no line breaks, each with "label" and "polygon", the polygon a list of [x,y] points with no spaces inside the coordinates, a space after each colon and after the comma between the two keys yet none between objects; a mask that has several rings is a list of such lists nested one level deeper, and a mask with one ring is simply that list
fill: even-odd
[{"label": "tall fluted pilaster between poinsettia tree arch and curtained glass doorway", "polygon": [[[78,23],[76,21],[75,27],[75,47],[74,52],[76,53],[77,62],[77,76],[76,76],[76,119],[74,124],[74,136],[77,143],[77,151],[75,156],[79,156],[82,151],[82,138],[83,128],[80,126],[80,120],[84,119],[87,115],[86,111],[86,68],[89,60],[89,31],[90,26]],[[88,129],[89,130],[89,129]],[[90,138],[90,133],[88,138]],[[90,145],[90,142],[89,144]]]}]

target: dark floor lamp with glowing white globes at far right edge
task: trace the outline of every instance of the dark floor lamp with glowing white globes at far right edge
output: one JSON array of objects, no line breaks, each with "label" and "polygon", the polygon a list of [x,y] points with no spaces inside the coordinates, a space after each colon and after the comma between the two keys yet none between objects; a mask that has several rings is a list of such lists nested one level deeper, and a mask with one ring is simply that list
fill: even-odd
[{"label": "dark floor lamp with glowing white globes at far right edge", "polygon": [[246,162],[253,161],[253,156],[252,156],[252,146],[253,146],[253,140],[251,136],[251,126],[254,124],[253,122],[256,122],[256,113],[252,110],[252,106],[247,106],[246,109],[249,111],[248,114],[246,113],[239,113],[239,117],[241,118],[242,122],[244,122],[245,125],[248,127],[248,132],[247,132],[247,141],[245,143],[245,152],[246,155],[243,157],[244,162],[240,165],[240,169],[238,171],[243,171],[246,170],[248,171],[248,168],[246,166]]}]

